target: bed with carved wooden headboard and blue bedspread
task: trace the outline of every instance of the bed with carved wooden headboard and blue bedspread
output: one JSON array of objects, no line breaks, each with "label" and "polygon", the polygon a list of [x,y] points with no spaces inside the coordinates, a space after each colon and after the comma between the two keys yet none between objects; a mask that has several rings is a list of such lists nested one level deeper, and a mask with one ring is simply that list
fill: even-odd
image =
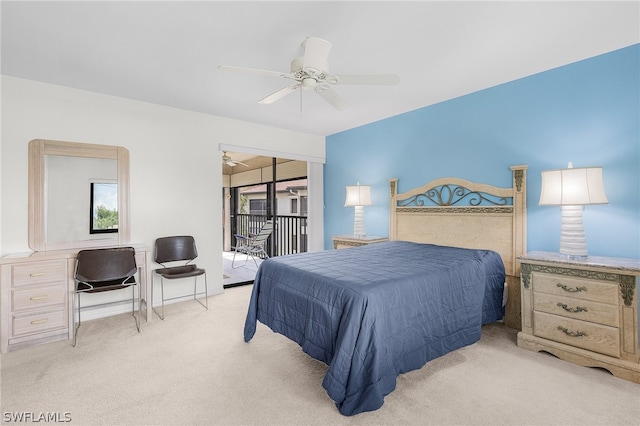
[{"label": "bed with carved wooden headboard and blue bedspread", "polygon": [[398,375],[503,319],[526,243],[526,166],[511,169],[509,188],[445,178],[398,193],[390,179],[390,241],[264,261],[245,341],[259,321],[328,365],[340,413],[380,408]]}]

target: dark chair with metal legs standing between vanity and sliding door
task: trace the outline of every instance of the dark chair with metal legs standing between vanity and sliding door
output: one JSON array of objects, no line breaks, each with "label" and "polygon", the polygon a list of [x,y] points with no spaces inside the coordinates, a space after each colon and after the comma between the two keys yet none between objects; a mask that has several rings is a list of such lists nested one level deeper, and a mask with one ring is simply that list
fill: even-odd
[{"label": "dark chair with metal legs standing between vanity and sliding door", "polygon": [[[155,308],[153,311],[164,319],[164,302],[166,300],[178,299],[184,296],[164,298],[164,280],[176,280],[182,278],[194,278],[193,284],[193,299],[200,303],[205,309],[209,309],[209,302],[207,298],[209,296],[207,288],[207,273],[204,269],[198,268],[197,265],[190,262],[198,257],[198,250],[196,249],[196,242],[192,236],[174,236],[174,237],[162,237],[156,240],[156,263],[162,265],[162,268],[155,269],[154,272],[160,275],[160,293],[162,297],[162,311],[158,313]],[[167,264],[173,262],[185,262],[178,266],[168,266]],[[198,294],[198,277],[204,275],[204,302],[202,303],[196,297]]]}]

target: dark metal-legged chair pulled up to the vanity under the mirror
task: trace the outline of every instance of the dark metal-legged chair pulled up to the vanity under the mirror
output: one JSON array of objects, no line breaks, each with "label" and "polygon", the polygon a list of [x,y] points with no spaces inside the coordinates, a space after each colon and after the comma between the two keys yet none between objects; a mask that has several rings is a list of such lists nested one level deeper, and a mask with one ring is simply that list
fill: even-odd
[{"label": "dark metal-legged chair pulled up to the vanity under the mirror", "polygon": [[138,267],[136,265],[135,249],[133,247],[117,247],[104,249],[80,250],[76,261],[74,274],[74,299],[77,301],[78,323],[75,323],[73,346],[76,346],[78,329],[82,322],[80,311],[80,295],[82,293],[99,293],[104,291],[121,290],[131,287],[131,315],[140,333],[140,291],[138,291],[138,317],[135,316],[135,278]]}]

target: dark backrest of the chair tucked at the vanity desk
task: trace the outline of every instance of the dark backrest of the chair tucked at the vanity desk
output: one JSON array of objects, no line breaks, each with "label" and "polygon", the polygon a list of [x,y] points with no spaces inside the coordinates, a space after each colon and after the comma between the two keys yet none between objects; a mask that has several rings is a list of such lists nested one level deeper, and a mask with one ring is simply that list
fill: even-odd
[{"label": "dark backrest of the chair tucked at the vanity desk", "polygon": [[133,247],[80,250],[75,279],[89,283],[112,281],[133,276],[137,270]]}]

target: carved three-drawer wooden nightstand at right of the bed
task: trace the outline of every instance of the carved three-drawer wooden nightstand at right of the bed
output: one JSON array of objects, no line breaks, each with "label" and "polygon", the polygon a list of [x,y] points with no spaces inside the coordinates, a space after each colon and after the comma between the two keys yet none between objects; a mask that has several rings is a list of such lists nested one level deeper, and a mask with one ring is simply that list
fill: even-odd
[{"label": "carved three-drawer wooden nightstand at right of the bed", "polygon": [[529,252],[521,262],[518,346],[640,383],[640,261]]}]

